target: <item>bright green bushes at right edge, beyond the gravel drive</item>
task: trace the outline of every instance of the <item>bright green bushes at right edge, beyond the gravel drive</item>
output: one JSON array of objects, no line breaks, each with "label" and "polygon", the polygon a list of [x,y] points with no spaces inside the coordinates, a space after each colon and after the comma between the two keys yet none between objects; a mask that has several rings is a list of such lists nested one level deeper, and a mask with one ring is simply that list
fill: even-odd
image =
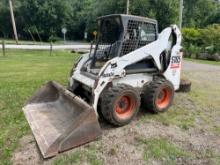
[{"label": "bright green bushes at right edge, beyond the gravel drive", "polygon": [[218,59],[216,56],[220,56],[220,24],[204,29],[183,28],[182,34],[187,57],[215,60]]}]

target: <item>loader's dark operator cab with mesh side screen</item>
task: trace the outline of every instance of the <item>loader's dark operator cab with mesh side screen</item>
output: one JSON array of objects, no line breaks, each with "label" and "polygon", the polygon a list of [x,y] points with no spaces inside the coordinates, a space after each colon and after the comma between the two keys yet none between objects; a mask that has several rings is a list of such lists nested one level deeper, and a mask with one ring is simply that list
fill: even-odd
[{"label": "loader's dark operator cab with mesh side screen", "polygon": [[97,75],[114,57],[123,56],[157,39],[157,21],[145,17],[113,14],[98,18],[98,37],[90,72]]}]

